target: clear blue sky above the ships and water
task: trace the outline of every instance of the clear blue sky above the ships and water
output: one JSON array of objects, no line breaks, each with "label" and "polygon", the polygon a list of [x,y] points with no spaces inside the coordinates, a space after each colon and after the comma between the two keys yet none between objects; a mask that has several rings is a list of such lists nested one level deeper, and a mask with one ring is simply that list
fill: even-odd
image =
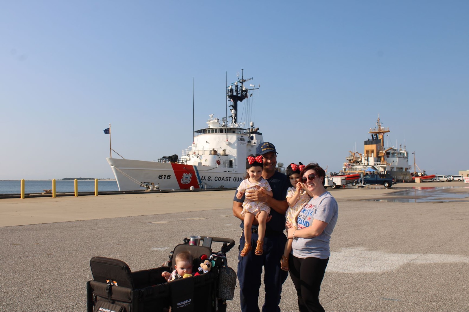
[{"label": "clear blue sky above the ships and water", "polygon": [[[111,178],[181,155],[228,82],[260,84],[278,161],[339,171],[378,114],[386,147],[469,169],[469,1],[2,1],[0,179]],[[412,155],[411,155],[412,156]],[[413,165],[411,157],[409,163]]]}]

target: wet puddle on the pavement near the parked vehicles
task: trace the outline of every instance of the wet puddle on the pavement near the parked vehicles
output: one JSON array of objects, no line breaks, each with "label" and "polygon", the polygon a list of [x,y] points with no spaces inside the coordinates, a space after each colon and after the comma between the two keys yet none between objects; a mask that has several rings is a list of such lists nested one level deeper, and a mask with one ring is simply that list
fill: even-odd
[{"label": "wet puddle on the pavement near the parked vehicles", "polygon": [[415,186],[363,201],[386,202],[469,202],[469,186]]}]

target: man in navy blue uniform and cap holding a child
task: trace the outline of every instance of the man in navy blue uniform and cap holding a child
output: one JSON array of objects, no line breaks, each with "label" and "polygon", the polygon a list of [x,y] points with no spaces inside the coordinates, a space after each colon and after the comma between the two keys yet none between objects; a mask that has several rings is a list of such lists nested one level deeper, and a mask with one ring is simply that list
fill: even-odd
[{"label": "man in navy blue uniform and cap holding a child", "polygon": [[[275,166],[277,165],[277,152],[272,143],[261,143],[256,149],[256,154],[262,155],[263,157],[264,168],[262,170],[262,178],[265,178],[269,182],[273,197],[261,191],[253,191],[245,194],[250,200],[266,202],[271,210],[265,228],[264,253],[262,255],[256,255],[254,253],[255,248],[252,248],[245,257],[238,255],[241,311],[259,312],[259,288],[261,286],[262,267],[264,266],[265,298],[262,311],[280,312],[280,293],[282,291],[282,284],[288,276],[288,272],[280,268],[280,260],[283,255],[285,243],[287,242],[287,237],[283,233],[283,230],[285,230],[285,212],[288,208],[288,203],[285,198],[287,196],[287,189],[290,186],[290,181],[285,174],[275,170]],[[243,220],[240,214],[242,212],[244,196],[241,199],[237,199],[236,193],[234,194],[233,200],[233,215]],[[241,222],[240,227],[244,229],[243,222]],[[256,246],[257,238],[257,220],[254,220],[250,242],[253,246]],[[244,243],[244,233],[242,233],[239,242],[240,250],[244,248]]]}]

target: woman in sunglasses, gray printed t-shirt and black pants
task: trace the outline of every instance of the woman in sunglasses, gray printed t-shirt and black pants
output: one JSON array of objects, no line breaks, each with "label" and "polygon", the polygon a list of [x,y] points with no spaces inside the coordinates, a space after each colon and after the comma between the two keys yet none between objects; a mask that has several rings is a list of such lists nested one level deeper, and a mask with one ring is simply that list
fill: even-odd
[{"label": "woman in sunglasses, gray printed t-shirt and black pants", "polygon": [[304,189],[312,198],[298,215],[298,228],[287,223],[288,238],[293,239],[288,259],[290,277],[298,294],[300,312],[324,311],[319,303],[319,290],[331,254],[329,240],[339,207],[325,190],[325,171],[317,163],[304,167],[300,175]]}]

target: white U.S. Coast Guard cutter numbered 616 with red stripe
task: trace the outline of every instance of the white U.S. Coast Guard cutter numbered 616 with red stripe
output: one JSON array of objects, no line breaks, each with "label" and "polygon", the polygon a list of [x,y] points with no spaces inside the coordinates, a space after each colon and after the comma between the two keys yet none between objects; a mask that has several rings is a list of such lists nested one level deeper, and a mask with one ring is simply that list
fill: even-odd
[{"label": "white U.S. Coast Guard cutter numbered 616 with red stripe", "polygon": [[238,102],[249,101],[251,92],[258,89],[244,86],[251,79],[241,75],[227,87],[231,116],[220,120],[209,115],[207,126],[194,131],[194,143],[182,150],[181,157],[164,156],[158,161],[106,158],[119,190],[238,187],[246,175],[246,157],[256,154],[256,147],[264,142],[253,122],[246,128],[237,120]]}]

